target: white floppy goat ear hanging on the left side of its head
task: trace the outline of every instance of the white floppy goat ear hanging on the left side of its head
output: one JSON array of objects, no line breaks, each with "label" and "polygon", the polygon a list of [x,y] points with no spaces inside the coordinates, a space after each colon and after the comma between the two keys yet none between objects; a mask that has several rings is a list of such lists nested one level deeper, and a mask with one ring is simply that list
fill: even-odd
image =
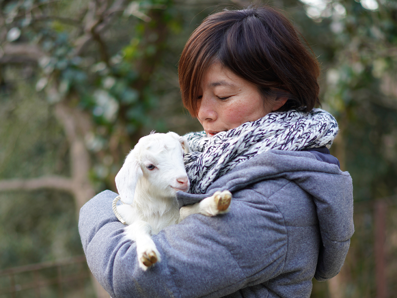
[{"label": "white floppy goat ear hanging on the left side of its head", "polygon": [[116,175],[116,188],[124,204],[131,205],[134,201],[135,187],[139,178],[143,176],[139,161],[131,151]]}]

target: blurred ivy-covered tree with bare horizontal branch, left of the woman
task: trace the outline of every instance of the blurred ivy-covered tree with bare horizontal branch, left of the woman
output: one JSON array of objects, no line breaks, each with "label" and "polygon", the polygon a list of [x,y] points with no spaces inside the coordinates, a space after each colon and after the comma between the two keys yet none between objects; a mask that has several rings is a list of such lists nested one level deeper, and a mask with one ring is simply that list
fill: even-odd
[{"label": "blurred ivy-covered tree with bare horizontal branch, left of the woman", "polygon": [[[2,65],[37,62],[30,79],[64,128],[71,162],[70,178],[6,181],[3,189],[68,190],[77,207],[94,195],[89,173],[114,189],[109,181],[117,166],[110,167],[120,163],[152,120],[148,111],[156,104],[156,93],[149,83],[162,62],[170,27],[166,21],[172,19],[169,5],[166,0],[2,3]],[[10,88],[7,77],[2,78],[4,88]]]}]

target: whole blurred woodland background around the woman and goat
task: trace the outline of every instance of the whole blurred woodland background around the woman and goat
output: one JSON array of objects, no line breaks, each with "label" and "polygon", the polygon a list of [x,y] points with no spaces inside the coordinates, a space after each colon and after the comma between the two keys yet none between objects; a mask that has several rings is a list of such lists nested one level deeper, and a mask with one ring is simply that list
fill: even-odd
[{"label": "whole blurred woodland background around the woman and goat", "polygon": [[[152,130],[201,130],[177,62],[206,15],[245,0],[0,0],[0,297],[108,297],[79,208]],[[397,2],[275,0],[322,64],[331,148],[353,177],[355,234],[312,297],[396,297]]]}]

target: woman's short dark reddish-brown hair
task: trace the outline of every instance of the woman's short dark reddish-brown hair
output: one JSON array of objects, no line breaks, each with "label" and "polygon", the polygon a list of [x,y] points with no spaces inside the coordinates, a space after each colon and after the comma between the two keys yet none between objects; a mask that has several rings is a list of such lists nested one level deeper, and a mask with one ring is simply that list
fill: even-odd
[{"label": "woman's short dark reddish-brown hair", "polygon": [[215,61],[255,84],[264,99],[274,88],[289,98],[279,111],[310,111],[320,104],[320,68],[301,34],[270,6],[250,6],[209,15],[195,29],[181,54],[179,85],[184,106],[197,117],[200,82]]}]

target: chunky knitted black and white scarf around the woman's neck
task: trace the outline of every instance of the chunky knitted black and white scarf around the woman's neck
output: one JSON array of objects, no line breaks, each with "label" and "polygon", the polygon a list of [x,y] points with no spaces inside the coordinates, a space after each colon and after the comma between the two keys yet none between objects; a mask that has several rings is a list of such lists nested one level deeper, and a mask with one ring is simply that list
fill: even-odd
[{"label": "chunky knitted black and white scarf around the woman's neck", "polygon": [[227,132],[207,137],[204,131],[184,135],[190,153],[184,157],[190,193],[204,194],[216,178],[270,149],[299,151],[331,147],[338,133],[333,116],[319,108],[310,112],[272,112]]}]

